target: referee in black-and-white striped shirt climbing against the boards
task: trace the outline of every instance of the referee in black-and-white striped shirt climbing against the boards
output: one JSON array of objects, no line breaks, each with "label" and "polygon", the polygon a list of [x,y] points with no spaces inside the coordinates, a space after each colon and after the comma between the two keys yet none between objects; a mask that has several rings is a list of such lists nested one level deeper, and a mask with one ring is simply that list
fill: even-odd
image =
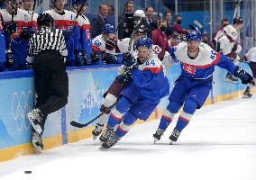
[{"label": "referee in black-and-white striped shirt climbing against the boards", "polygon": [[56,112],[68,103],[69,78],[64,59],[68,51],[62,31],[53,29],[54,20],[50,14],[40,14],[39,30],[29,41],[29,56],[34,57],[34,85],[37,93],[36,107],[27,116],[32,124],[32,146],[41,153],[41,134],[47,115]]}]

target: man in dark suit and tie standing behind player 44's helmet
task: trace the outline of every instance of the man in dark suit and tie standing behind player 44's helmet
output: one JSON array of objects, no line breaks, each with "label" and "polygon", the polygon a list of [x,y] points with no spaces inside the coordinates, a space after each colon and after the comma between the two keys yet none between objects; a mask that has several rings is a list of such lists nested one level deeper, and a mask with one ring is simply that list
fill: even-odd
[{"label": "man in dark suit and tie standing behind player 44's helmet", "polygon": [[145,9],[146,21],[144,21],[143,25],[147,31],[148,37],[152,37],[152,31],[158,28],[157,20],[152,18],[152,14],[154,13],[154,9],[149,6]]}]

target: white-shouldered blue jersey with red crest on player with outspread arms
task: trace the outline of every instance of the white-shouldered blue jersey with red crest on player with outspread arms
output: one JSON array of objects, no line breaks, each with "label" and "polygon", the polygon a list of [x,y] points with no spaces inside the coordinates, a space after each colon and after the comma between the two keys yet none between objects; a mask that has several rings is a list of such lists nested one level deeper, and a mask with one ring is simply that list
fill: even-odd
[{"label": "white-shouldered blue jersey with red crest on player with outspread arms", "polygon": [[169,50],[172,58],[180,61],[181,75],[194,79],[208,79],[213,76],[215,66],[225,68],[234,73],[236,66],[223,54],[216,52],[206,43],[201,42],[197,58],[189,58],[187,55],[187,42],[180,42]]}]

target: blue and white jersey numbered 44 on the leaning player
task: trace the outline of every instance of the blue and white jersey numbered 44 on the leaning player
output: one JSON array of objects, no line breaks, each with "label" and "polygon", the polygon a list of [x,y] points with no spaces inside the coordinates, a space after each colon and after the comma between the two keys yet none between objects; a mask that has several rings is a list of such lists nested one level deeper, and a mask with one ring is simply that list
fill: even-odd
[{"label": "blue and white jersey numbered 44 on the leaning player", "polygon": [[165,76],[165,69],[157,56],[149,58],[142,65],[132,71],[133,82],[123,89],[123,96],[132,102],[138,99],[160,99],[169,94],[169,80]]}]

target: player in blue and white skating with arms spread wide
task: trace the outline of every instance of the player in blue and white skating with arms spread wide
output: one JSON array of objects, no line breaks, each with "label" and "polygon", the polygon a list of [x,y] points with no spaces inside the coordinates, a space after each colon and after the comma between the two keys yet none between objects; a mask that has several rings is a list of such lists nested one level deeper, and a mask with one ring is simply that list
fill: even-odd
[{"label": "player in blue and white skating with arms spread wide", "polygon": [[252,76],[241,67],[235,66],[229,58],[201,42],[199,31],[189,31],[186,36],[187,42],[180,42],[169,51],[172,58],[180,61],[182,72],[169,95],[169,105],[161,116],[159,128],[153,134],[155,142],[160,140],[174,115],[184,105],[176,127],[169,136],[170,144],[178,140],[194,112],[206,102],[212,88],[215,66],[225,68],[233,76],[239,77],[242,84],[254,84]]}]

